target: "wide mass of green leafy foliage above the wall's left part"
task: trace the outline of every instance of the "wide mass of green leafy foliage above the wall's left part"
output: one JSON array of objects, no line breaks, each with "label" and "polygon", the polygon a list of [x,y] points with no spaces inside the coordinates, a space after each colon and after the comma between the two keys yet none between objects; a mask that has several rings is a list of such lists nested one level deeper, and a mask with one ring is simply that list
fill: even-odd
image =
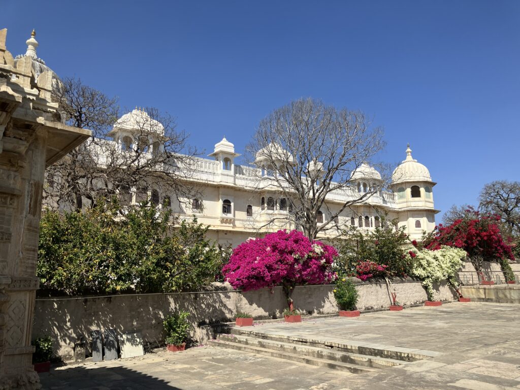
[{"label": "wide mass of green leafy foliage above the wall's left part", "polygon": [[121,210],[116,200],[84,213],[42,216],[37,276],[58,294],[173,292],[215,280],[221,251],[207,227],[181,222],[169,209],[141,204]]}]

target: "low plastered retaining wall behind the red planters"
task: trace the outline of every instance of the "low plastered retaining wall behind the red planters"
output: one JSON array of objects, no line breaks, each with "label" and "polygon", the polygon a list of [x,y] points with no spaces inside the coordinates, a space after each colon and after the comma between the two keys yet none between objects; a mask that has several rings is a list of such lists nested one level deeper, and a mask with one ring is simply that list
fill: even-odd
[{"label": "low plastered retaining wall behind the red planters", "polygon": [[[222,324],[233,321],[237,311],[256,319],[280,318],[285,305],[282,288],[242,292],[229,284],[214,283],[221,291],[172,294],[133,294],[97,297],[37,298],[33,336],[50,335],[58,356],[70,360],[73,345],[84,336],[87,354],[92,342],[90,332],[95,329],[115,329],[118,333],[140,331],[146,345],[163,345],[162,320],[174,310],[187,310],[193,324],[192,336],[199,343],[212,339]],[[394,282],[397,300],[402,305],[420,304],[426,300],[421,282],[412,279]],[[446,282],[436,286],[437,299],[453,300]],[[333,285],[296,287],[295,306],[303,314],[326,315],[337,313]],[[384,281],[360,283],[358,308],[382,309],[391,298]]]}]

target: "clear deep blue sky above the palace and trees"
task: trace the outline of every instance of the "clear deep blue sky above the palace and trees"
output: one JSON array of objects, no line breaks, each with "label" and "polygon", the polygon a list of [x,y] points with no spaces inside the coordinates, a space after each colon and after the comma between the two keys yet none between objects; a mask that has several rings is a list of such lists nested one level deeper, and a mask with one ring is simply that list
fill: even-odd
[{"label": "clear deep blue sky above the palace and trees", "polygon": [[385,162],[410,142],[437,209],[520,180],[518,1],[2,3],[12,54],[35,28],[58,75],[173,114],[207,153],[311,96],[384,127]]}]

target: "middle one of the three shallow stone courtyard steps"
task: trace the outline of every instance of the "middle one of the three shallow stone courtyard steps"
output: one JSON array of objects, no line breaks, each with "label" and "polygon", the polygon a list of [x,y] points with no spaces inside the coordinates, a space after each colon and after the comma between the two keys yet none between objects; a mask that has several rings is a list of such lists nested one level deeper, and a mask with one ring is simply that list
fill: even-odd
[{"label": "middle one of the three shallow stone courtyard steps", "polygon": [[350,363],[353,365],[363,367],[387,368],[398,366],[403,363],[406,364],[406,362],[396,359],[388,359],[369,355],[359,355],[349,352],[342,352],[340,350],[333,350],[327,347],[320,348],[308,345],[298,345],[294,343],[284,343],[280,341],[258,339],[257,337],[221,334],[219,335],[219,340],[230,343],[249,345],[258,348],[278,350],[281,352],[288,352],[291,354],[310,356],[319,359],[341,361],[343,363]]}]

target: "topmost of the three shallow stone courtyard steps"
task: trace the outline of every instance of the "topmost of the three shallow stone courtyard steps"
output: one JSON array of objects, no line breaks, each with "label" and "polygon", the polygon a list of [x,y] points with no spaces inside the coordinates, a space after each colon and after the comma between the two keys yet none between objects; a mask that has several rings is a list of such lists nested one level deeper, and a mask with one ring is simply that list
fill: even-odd
[{"label": "topmost of the three shallow stone courtyard steps", "polygon": [[310,347],[337,350],[339,352],[346,352],[356,355],[366,355],[387,359],[395,359],[405,362],[430,359],[431,357],[438,356],[438,353],[428,353],[427,351],[422,351],[419,349],[391,346],[386,347],[354,340],[342,342],[313,340],[297,336],[262,333],[257,332],[255,330],[246,330],[242,328],[232,328],[231,334],[236,336],[255,337],[261,340],[270,340],[282,343],[292,343],[296,345],[305,345]]}]

